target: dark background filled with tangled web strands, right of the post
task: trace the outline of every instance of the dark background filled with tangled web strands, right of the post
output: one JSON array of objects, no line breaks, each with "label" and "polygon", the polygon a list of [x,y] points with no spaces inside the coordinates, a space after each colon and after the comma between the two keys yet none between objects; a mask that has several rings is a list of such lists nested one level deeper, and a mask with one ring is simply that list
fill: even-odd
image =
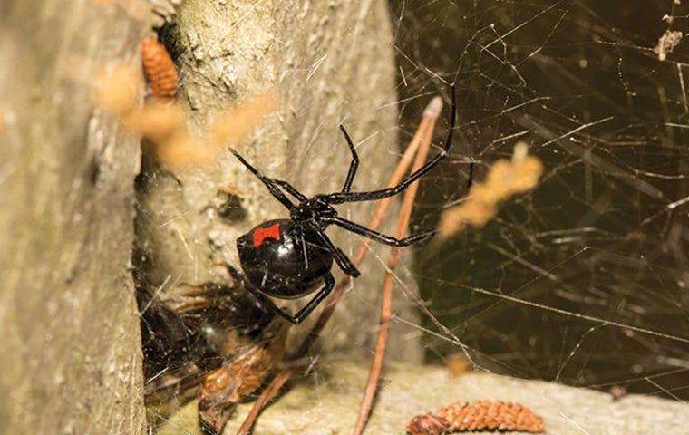
[{"label": "dark background filled with tangled web strands, right of the post", "polygon": [[686,33],[679,3],[393,2],[402,131],[442,82],[460,95],[415,225],[461,201],[467,160],[480,180],[525,140],[546,167],[488,226],[417,251],[428,361],[689,398],[689,52],[655,48]]}]

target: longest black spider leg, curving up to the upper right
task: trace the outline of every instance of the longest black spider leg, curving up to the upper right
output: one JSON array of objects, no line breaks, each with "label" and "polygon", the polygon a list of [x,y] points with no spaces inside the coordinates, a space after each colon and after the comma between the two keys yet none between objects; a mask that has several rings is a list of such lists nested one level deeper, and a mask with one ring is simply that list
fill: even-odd
[{"label": "longest black spider leg, curving up to the upper right", "polygon": [[432,160],[429,160],[421,168],[417,169],[412,174],[406,176],[400,183],[393,187],[387,189],[369,190],[365,192],[335,192],[327,195],[321,196],[328,204],[342,204],[344,202],[359,202],[359,201],[372,201],[374,199],[390,198],[399,193],[402,193],[404,189],[407,189],[414,181],[422,178],[429,170],[433,169],[441,160],[445,159],[452,146],[452,131],[454,131],[457,118],[457,94],[455,92],[455,86],[452,85],[452,110],[450,115],[450,129],[447,134],[447,139],[445,140],[445,145],[442,147],[440,154],[435,156]]}]

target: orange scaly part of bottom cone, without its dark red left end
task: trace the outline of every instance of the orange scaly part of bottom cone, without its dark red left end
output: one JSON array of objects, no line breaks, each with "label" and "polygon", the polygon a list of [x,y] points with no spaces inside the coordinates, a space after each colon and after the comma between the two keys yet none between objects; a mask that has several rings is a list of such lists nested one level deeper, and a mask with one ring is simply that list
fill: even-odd
[{"label": "orange scaly part of bottom cone, without its dark red left end", "polygon": [[517,430],[542,433],[543,419],[529,408],[509,401],[458,401],[442,408],[438,416],[451,430]]}]

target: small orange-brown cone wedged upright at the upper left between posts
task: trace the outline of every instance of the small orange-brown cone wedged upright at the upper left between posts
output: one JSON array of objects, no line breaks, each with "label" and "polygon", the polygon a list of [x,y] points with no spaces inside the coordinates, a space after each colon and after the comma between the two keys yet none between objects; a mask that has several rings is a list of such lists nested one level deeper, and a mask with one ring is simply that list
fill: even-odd
[{"label": "small orange-brown cone wedged upright at the upper left between posts", "polygon": [[177,67],[157,38],[141,41],[141,63],[151,96],[158,100],[174,100],[177,96]]}]

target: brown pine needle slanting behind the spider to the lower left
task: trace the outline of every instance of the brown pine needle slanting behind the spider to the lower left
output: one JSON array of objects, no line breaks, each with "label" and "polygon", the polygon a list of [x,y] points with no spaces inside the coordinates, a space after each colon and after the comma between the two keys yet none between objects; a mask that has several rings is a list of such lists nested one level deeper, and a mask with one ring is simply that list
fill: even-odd
[{"label": "brown pine needle slanting behind the spider to the lower left", "polygon": [[[433,102],[435,101],[436,100],[433,100]],[[388,181],[388,187],[396,186],[403,179],[404,174],[407,173],[410,165],[412,164],[412,159],[416,154],[416,151],[419,149],[419,146],[421,145],[422,138],[426,136],[427,131],[432,131],[432,128],[435,125],[438,116],[440,115],[440,109],[435,110],[438,103],[436,102],[434,104],[435,105],[433,105],[433,103],[429,104],[429,107],[426,109],[426,111],[423,112],[423,120],[421,121],[419,127],[414,133],[412,141],[409,143],[407,149],[404,151],[402,159],[400,159],[400,162],[397,164],[397,167],[393,170],[393,175],[390,177],[390,180]],[[383,221],[383,218],[385,216],[385,212],[390,207],[392,200],[393,198],[385,198],[378,202],[378,204],[376,204],[376,207],[374,209],[374,216],[368,222],[367,227],[375,229],[381,225],[381,222]],[[364,260],[364,256],[366,256],[366,253],[368,252],[368,246],[370,243],[371,240],[367,238],[361,241],[359,247],[357,248],[356,254],[352,258],[354,266],[359,266],[361,262]],[[330,295],[323,312],[318,317],[318,320],[316,320],[315,325],[309,332],[308,336],[306,336],[304,343],[302,343],[301,346],[299,346],[299,349],[296,351],[294,357],[292,358],[293,361],[303,358],[306,355],[306,353],[308,353],[308,350],[311,348],[313,343],[315,343],[315,340],[318,338],[318,334],[323,330],[328,320],[330,320],[331,315],[333,315],[333,312],[335,311],[335,305],[342,299],[342,296],[345,295],[345,288],[349,285],[351,280],[352,278],[350,276],[345,276],[335,286],[335,290],[333,291],[333,294]],[[254,402],[253,408],[251,409],[251,411],[249,411],[247,418],[244,420],[237,432],[238,435],[247,435],[251,433],[251,429],[253,428],[254,423],[256,422],[258,414],[261,411],[263,411],[263,408],[267,405],[267,403],[277,395],[277,392],[280,391],[280,389],[285,385],[287,381],[289,381],[289,379],[292,377],[295,371],[296,366],[294,364],[288,364],[286,368],[277,373],[277,376],[273,379],[272,382],[270,382],[266,390],[264,390],[258,397],[257,401]]]}]

